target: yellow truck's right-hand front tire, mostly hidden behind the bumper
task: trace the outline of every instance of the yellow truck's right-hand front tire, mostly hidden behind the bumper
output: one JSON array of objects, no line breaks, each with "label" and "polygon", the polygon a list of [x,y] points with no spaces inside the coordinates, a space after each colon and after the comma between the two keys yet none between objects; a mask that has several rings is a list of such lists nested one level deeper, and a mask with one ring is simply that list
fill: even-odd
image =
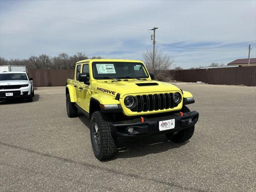
[{"label": "yellow truck's right-hand front tire, mostly hidden behind the bumper", "polygon": [[[186,113],[186,112],[190,112],[190,110],[188,107],[183,106],[181,109],[181,112]],[[195,130],[195,126],[191,126],[191,127],[185,128],[183,130],[180,130],[177,133],[168,133],[165,135],[168,138],[168,140],[176,142],[176,143],[181,143],[181,142],[189,140],[193,136],[194,130]]]}]

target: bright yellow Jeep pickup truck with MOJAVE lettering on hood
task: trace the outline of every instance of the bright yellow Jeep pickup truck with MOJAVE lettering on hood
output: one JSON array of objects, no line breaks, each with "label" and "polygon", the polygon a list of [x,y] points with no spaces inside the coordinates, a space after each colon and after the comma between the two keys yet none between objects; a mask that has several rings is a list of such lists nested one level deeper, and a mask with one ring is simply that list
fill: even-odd
[{"label": "bright yellow Jeep pickup truck with MOJAVE lettering on hood", "polygon": [[76,63],[66,85],[68,117],[78,110],[90,118],[93,152],[99,160],[114,156],[117,140],[165,134],[173,142],[189,140],[198,112],[190,92],[154,80],[142,61],[87,59]]}]

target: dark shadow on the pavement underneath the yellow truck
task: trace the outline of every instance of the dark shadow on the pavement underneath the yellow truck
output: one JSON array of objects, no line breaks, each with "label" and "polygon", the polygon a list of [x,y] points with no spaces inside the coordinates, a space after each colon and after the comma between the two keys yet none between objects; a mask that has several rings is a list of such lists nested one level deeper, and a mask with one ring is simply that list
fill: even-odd
[{"label": "dark shadow on the pavement underneath the yellow truck", "polygon": [[[90,129],[90,120],[83,114],[79,114],[78,118],[84,123],[84,125]],[[116,158],[134,158],[146,156],[148,154],[157,154],[179,148],[189,141],[182,143],[174,143],[166,138],[165,135],[156,135],[149,137],[139,138],[125,138],[118,139],[118,153],[114,158],[106,161],[112,161]]]}]

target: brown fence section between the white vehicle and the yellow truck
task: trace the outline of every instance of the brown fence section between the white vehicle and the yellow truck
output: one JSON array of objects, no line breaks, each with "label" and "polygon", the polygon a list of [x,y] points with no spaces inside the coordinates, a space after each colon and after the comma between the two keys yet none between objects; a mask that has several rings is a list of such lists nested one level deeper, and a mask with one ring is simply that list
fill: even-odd
[{"label": "brown fence section between the white vehicle and the yellow truck", "polygon": [[65,86],[67,78],[74,78],[70,69],[28,69],[28,74],[34,77],[35,87]]}]

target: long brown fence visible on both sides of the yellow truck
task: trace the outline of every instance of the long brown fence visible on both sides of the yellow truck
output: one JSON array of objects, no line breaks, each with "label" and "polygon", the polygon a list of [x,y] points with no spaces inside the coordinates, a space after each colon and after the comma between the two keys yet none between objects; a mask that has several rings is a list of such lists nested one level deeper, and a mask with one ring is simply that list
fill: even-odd
[{"label": "long brown fence visible on both sides of the yellow truck", "polygon": [[[256,66],[194,70],[167,70],[165,73],[176,81],[224,85],[256,86]],[[74,78],[69,69],[28,69],[34,77],[34,86],[65,86],[67,78]]]}]

